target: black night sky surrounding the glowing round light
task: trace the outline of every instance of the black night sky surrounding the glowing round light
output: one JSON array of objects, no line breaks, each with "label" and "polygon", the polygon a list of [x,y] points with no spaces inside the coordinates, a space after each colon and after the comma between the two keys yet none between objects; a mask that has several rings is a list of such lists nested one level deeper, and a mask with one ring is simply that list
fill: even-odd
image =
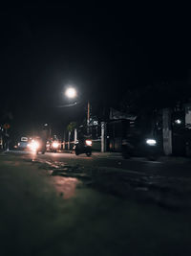
[{"label": "black night sky surrounding the glowing round light", "polygon": [[[62,123],[83,115],[87,99],[95,109],[115,106],[128,88],[186,81],[189,22],[179,11],[154,8],[150,15],[144,8],[2,9],[1,109],[10,109],[16,124]],[[76,86],[79,107],[56,107],[68,104],[67,84]]]}]

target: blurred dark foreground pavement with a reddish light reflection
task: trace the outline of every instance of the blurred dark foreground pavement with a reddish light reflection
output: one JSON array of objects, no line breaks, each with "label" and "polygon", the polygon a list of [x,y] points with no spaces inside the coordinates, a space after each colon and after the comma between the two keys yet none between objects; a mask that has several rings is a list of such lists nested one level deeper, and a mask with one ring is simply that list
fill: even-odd
[{"label": "blurred dark foreground pavement with a reddish light reflection", "polygon": [[[191,250],[189,180],[180,186],[180,180],[65,163],[53,167],[12,154],[0,155],[0,170],[2,255],[180,255]],[[182,185],[186,189],[180,190]],[[174,203],[168,207],[168,201]]]}]

